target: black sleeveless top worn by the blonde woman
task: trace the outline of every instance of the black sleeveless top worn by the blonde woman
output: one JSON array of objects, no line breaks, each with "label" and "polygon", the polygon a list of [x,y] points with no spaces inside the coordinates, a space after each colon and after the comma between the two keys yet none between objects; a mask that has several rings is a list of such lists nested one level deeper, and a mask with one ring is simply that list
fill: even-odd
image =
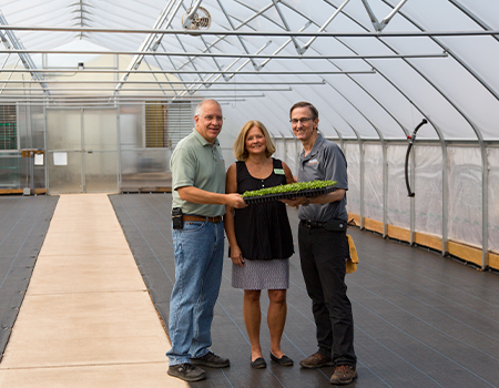
[{"label": "black sleeveless top worn by the blonde woman", "polygon": [[[263,187],[286,184],[283,162],[272,159],[274,169],[264,180],[253,177],[246,163],[236,162],[237,193],[259,190]],[[282,174],[275,171],[281,170]],[[293,234],[287,218],[286,205],[282,202],[252,204],[245,208],[236,208],[234,227],[237,245],[247,259],[288,258],[294,253]]]}]

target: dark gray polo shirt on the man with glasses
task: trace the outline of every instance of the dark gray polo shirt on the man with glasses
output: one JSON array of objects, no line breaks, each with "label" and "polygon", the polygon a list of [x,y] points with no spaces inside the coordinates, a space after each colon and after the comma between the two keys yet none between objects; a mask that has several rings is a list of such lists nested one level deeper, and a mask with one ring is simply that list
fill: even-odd
[{"label": "dark gray polo shirt on the man with glasses", "polygon": [[[342,149],[320,134],[314,143],[312,151],[305,156],[299,154],[298,182],[337,181],[337,188],[348,190],[347,162]],[[324,205],[309,204],[299,206],[298,218],[326,222],[328,219],[348,221],[346,211],[346,194],[339,202]]]}]

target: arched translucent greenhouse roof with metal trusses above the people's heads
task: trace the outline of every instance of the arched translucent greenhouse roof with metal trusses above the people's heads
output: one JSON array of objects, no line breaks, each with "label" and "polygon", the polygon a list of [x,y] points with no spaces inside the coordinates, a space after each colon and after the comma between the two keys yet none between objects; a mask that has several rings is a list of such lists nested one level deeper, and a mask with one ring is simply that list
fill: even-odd
[{"label": "arched translucent greenhouse roof with metal trusses above the people's heads", "polygon": [[[288,109],[307,100],[332,137],[406,139],[422,119],[419,139],[499,137],[495,0],[3,0],[0,11],[3,101],[210,96],[232,122],[291,135]],[[93,64],[101,53],[114,65]]]}]

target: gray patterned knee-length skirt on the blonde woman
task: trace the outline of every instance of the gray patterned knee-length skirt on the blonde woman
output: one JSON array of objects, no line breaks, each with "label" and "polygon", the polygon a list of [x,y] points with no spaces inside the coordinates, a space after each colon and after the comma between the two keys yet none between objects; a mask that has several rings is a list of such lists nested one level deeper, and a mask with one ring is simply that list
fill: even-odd
[{"label": "gray patterned knee-length skirt on the blonde woman", "polygon": [[242,289],[287,289],[289,259],[245,259],[243,267],[232,264],[232,286]]}]

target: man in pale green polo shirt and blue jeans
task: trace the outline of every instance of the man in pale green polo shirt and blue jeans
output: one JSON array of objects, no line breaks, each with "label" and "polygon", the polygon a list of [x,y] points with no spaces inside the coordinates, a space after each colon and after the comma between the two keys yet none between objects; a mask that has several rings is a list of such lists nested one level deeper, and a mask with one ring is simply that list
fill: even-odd
[{"label": "man in pale green polo shirt and blue jeans", "polygon": [[228,359],[210,350],[222,279],[222,216],[225,205],[246,206],[240,194],[225,194],[225,165],[216,139],[222,131],[222,108],[204,100],[194,121],[196,127],[179,142],[170,160],[175,285],[170,300],[167,372],[185,381],[206,378],[200,366],[230,366]]}]

